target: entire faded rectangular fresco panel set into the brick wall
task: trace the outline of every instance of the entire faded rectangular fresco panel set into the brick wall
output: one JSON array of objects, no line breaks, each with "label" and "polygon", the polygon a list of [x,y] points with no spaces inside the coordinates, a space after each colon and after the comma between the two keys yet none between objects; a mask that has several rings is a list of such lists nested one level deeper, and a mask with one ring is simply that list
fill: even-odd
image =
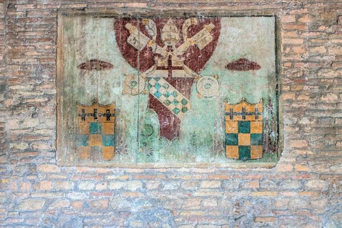
[{"label": "entire faded rectangular fresco panel set into the brick wall", "polygon": [[277,160],[274,17],[61,21],[62,160]]}]

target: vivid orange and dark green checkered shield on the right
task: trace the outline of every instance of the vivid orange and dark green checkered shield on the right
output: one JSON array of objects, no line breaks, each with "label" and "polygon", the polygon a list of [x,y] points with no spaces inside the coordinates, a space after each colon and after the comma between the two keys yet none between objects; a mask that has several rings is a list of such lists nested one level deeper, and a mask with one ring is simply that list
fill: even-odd
[{"label": "vivid orange and dark green checkered shield on the right", "polygon": [[252,160],[263,157],[263,100],[252,105],[243,99],[225,103],[226,157]]}]

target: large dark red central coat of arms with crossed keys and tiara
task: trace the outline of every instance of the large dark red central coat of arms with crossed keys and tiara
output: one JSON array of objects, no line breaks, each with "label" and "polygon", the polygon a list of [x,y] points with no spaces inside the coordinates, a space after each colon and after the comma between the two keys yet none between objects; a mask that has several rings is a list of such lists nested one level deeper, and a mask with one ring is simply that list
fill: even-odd
[{"label": "large dark red central coat of arms with crossed keys and tiara", "polygon": [[[137,24],[127,19],[116,21],[115,29],[124,58],[141,72],[139,76],[126,75],[123,92],[135,95],[147,87],[148,108],[157,113],[159,135],[168,140],[177,138],[181,121],[192,108],[194,81],[200,96],[218,94],[216,78],[198,73],[215,50],[220,20],[144,19]],[[139,66],[138,59],[143,60]]]}]

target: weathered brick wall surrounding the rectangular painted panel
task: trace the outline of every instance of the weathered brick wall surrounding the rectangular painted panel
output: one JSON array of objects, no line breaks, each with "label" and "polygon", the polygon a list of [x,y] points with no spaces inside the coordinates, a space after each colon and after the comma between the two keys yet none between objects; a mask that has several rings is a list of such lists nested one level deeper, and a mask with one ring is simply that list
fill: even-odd
[{"label": "weathered brick wall surrounding the rectangular painted panel", "polygon": [[[342,227],[340,0],[0,0],[0,8],[0,225]],[[274,12],[285,125],[278,165],[56,166],[61,8]]]}]

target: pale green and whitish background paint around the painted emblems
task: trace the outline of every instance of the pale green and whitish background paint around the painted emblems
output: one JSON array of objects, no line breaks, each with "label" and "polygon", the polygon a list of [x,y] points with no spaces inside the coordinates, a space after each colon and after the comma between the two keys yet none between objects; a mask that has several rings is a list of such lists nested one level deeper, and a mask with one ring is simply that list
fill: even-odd
[{"label": "pale green and whitish background paint around the painted emblems", "polygon": [[[116,153],[120,151],[121,155],[116,155],[114,162],[236,162],[224,155],[224,99],[239,103],[245,97],[249,103],[259,103],[270,98],[276,103],[273,17],[222,18],[218,45],[200,73],[218,75],[220,95],[199,98],[194,83],[192,110],[181,123],[180,138],[172,142],[159,138],[159,121],[155,112],[147,109],[147,94],[122,94],[124,74],[136,73],[136,70],[124,60],[116,45],[114,18],[72,16],[64,18],[63,26],[63,112],[68,113],[64,119],[68,119],[66,126],[70,127],[64,129],[63,137],[64,141],[71,139],[66,142],[69,149],[75,148],[76,102],[89,105],[98,99],[102,104],[116,103]],[[261,69],[227,71],[224,68],[239,58],[258,62]],[[91,59],[109,62],[114,68],[109,71],[77,68]],[[276,105],[273,111],[276,113]],[[154,128],[148,138],[144,136],[146,125]],[[274,157],[265,155],[263,161],[274,161]]]}]

